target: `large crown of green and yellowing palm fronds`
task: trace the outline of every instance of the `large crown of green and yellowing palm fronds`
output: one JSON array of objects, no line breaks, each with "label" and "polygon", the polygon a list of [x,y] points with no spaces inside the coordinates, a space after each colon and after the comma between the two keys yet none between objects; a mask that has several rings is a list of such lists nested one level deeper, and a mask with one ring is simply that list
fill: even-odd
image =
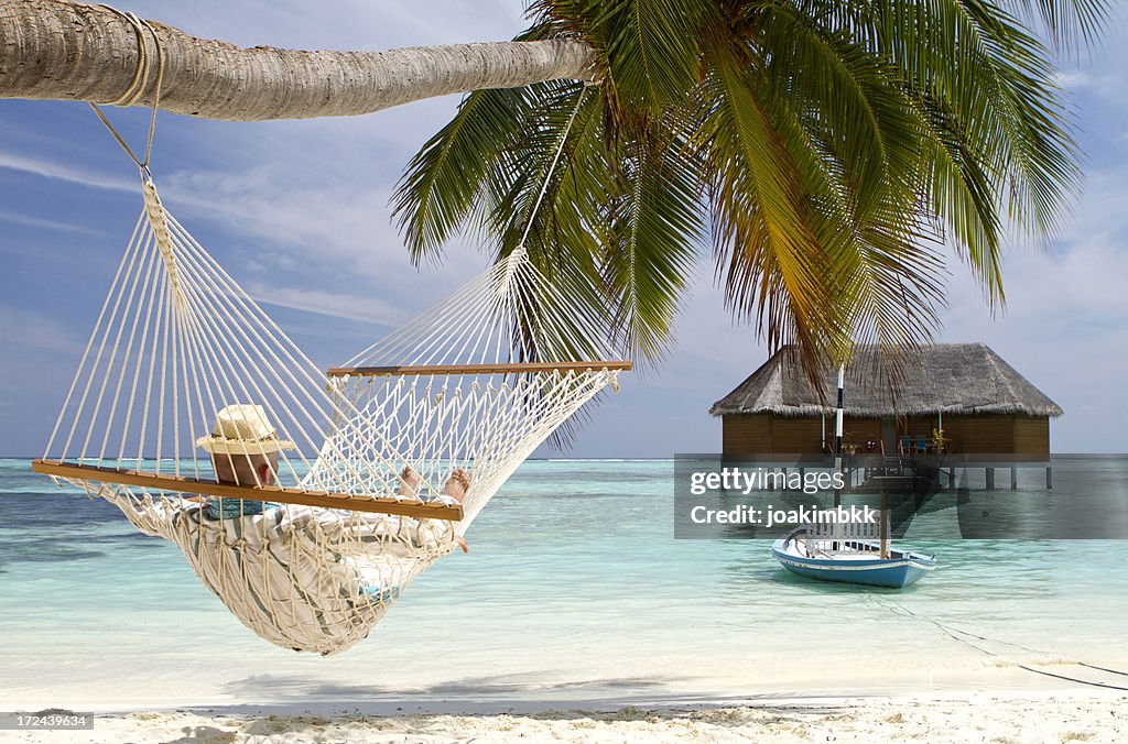
[{"label": "large crown of green and yellowing palm fronds", "polygon": [[732,312],[812,374],[858,340],[896,372],[938,330],[945,253],[994,307],[1004,249],[1060,229],[1079,172],[1054,53],[1105,6],[538,0],[522,37],[583,38],[599,86],[468,96],[396,215],[416,260],[459,230],[523,241],[643,360],[712,255]]}]

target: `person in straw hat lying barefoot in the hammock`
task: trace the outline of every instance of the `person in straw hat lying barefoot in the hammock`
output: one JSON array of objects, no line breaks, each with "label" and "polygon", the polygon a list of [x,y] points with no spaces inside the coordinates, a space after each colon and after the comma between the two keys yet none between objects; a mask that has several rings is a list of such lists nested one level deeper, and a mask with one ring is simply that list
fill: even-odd
[{"label": "person in straw hat lying barefoot in the hammock", "polygon": [[[217,479],[239,486],[275,482],[279,452],[293,448],[261,406],[228,406],[197,444]],[[402,495],[417,493],[414,470],[400,479]],[[468,487],[459,469],[441,498],[460,502]],[[107,498],[142,532],[175,542],[203,584],[257,635],[326,655],[364,638],[418,572],[455,546],[466,549],[442,520],[254,499]]]}]

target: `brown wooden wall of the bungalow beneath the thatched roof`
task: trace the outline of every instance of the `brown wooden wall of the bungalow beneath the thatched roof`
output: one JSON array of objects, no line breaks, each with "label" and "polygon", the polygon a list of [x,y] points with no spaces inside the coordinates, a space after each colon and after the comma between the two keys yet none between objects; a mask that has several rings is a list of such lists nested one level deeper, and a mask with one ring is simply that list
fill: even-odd
[{"label": "brown wooden wall of the bungalow beneath the thatched roof", "polygon": [[[834,414],[819,416],[783,416],[778,414],[725,414],[723,444],[725,454],[805,454],[825,451],[834,443]],[[896,453],[897,437],[932,437],[937,428],[936,416],[887,418],[846,416],[845,441],[865,451],[866,442],[884,441],[887,452]],[[825,428],[823,428],[825,427]],[[1050,424],[1046,416],[1021,414],[944,414],[944,437],[948,450],[957,454],[1024,454],[1049,455]],[[884,431],[883,431],[884,429]],[[880,448],[880,445],[879,445]]]}]

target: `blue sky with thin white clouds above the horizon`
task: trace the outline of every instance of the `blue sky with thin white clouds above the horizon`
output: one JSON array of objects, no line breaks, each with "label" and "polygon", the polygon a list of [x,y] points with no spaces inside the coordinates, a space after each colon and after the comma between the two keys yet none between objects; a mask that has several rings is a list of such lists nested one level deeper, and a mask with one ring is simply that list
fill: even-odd
[{"label": "blue sky with thin white clouds above the horizon", "polygon": [[[254,46],[382,50],[506,39],[508,0],[428,3],[122,1],[122,10]],[[1122,14],[1121,14],[1122,16]],[[985,342],[1054,398],[1058,452],[1125,452],[1128,440],[1128,30],[1067,65],[1086,181],[1070,228],[1006,257],[1006,311],[992,318],[951,266],[941,340]],[[362,117],[229,123],[162,114],[153,175],[166,206],[319,364],[343,362],[485,267],[456,243],[413,268],[389,220],[404,163],[457,97]],[[142,109],[111,112],[134,143]],[[135,168],[85,105],[0,101],[0,455],[38,455],[141,206]],[[670,457],[720,449],[710,405],[765,357],[700,266],[666,364],[632,375],[571,457]]]}]

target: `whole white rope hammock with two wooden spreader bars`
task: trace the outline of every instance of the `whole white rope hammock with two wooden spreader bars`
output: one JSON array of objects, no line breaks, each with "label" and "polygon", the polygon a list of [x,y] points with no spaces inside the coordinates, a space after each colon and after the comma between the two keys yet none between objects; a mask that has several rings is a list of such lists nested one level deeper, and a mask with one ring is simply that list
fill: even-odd
[{"label": "whole white rope hammock with two wooden spreader bars", "polygon": [[[327,655],[367,637],[513,470],[631,366],[600,361],[614,358],[603,336],[518,249],[325,374],[142,172],[144,209],[33,468],[176,542],[279,646]],[[276,452],[264,485],[219,481],[203,449],[235,404],[261,407],[272,429],[245,444]],[[443,493],[459,470],[460,503]],[[233,513],[214,519],[217,505]]]}]

